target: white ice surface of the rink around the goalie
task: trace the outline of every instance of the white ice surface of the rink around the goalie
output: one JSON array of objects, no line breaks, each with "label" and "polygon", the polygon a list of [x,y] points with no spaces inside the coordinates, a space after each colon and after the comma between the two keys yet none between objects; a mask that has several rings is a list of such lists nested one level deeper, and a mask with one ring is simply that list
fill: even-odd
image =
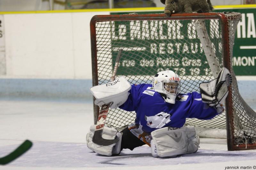
[{"label": "white ice surface of the rink around the goalie", "polygon": [[[225,139],[201,138],[198,152],[154,158],[146,145],[118,156],[90,151],[85,135],[93,123],[92,101],[0,100],[0,157],[25,139],[33,147],[0,170],[225,170],[256,168],[256,150],[227,151]],[[253,167],[255,166],[255,167]]]}]

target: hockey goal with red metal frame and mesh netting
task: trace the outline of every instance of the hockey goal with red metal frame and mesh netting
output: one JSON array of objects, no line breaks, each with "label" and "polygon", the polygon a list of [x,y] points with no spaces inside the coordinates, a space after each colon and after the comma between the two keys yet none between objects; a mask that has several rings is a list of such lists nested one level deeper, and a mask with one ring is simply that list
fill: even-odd
[{"label": "hockey goal with red metal frame and mesh netting", "polygon": [[[232,74],[226,111],[211,120],[187,119],[186,125],[227,129],[228,150],[255,149],[256,113],[240,96],[232,68],[240,19],[240,13],[235,12],[171,17],[94,16],[91,20],[93,86],[109,82],[120,48],[123,52],[117,76],[124,76],[131,84],[151,84],[158,71],[174,70],[181,78],[181,93],[200,92],[199,84],[214,79],[225,66]],[[95,123],[98,115],[99,107],[94,105]],[[134,112],[111,109],[106,124],[120,131],[134,122],[135,117]]]}]

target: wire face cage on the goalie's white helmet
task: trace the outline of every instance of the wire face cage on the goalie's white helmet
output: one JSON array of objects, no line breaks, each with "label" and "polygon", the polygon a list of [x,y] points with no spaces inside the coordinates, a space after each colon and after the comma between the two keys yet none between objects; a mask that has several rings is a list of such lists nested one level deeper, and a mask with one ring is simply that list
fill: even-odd
[{"label": "wire face cage on the goalie's white helmet", "polygon": [[176,80],[165,79],[163,80],[163,91],[167,94],[177,96],[180,92],[180,82]]}]

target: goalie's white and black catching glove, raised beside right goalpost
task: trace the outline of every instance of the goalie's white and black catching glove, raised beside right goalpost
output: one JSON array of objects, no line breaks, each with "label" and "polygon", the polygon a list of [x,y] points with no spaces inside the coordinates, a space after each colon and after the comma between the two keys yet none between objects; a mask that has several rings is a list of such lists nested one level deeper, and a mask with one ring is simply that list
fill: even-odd
[{"label": "goalie's white and black catching glove, raised beside right goalpost", "polygon": [[210,82],[200,83],[202,101],[211,107],[223,107],[228,96],[228,86],[232,82],[232,77],[228,69],[223,67],[216,79]]}]

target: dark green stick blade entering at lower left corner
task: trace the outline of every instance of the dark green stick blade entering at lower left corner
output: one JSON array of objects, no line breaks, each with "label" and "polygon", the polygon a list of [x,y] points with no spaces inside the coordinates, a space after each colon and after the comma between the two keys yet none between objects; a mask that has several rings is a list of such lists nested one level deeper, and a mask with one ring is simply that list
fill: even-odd
[{"label": "dark green stick blade entering at lower left corner", "polygon": [[20,157],[22,154],[24,154],[25,152],[27,152],[31,146],[32,146],[32,142],[29,140],[25,140],[18,148],[16,148],[12,153],[10,153],[9,155],[6,155],[3,158],[0,158],[0,165],[5,165],[8,164],[10,162],[12,162],[14,159],[17,159],[18,157]]}]

